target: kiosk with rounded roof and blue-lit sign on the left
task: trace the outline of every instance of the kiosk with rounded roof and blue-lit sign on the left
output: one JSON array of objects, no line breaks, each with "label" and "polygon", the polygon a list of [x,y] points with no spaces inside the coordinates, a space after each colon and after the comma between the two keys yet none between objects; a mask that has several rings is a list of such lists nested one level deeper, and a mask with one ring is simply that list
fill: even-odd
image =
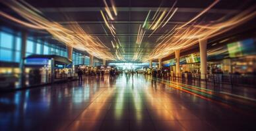
[{"label": "kiosk with rounded roof and blue-lit sign on the left", "polygon": [[25,58],[26,86],[54,83],[77,77],[70,60],[56,55],[31,55]]}]

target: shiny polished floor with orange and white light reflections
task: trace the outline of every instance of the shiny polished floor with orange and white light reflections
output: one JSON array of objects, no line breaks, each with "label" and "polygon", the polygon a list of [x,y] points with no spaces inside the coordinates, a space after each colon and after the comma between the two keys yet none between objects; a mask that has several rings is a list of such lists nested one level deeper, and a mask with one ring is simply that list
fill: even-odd
[{"label": "shiny polished floor with orange and white light reflections", "polygon": [[0,130],[256,130],[255,116],[144,75],[0,94]]}]

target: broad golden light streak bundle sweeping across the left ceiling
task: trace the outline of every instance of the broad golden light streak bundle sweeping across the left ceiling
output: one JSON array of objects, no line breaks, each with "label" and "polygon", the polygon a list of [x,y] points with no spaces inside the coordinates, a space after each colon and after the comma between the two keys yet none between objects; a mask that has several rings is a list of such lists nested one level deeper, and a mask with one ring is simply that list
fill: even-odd
[{"label": "broad golden light streak bundle sweeping across the left ceiling", "polygon": [[[115,57],[109,51],[100,39],[97,37],[91,37],[88,35],[77,22],[70,24],[70,29],[61,26],[57,22],[51,22],[44,18],[41,14],[38,14],[38,10],[35,10],[32,6],[22,5],[19,1],[1,1],[1,3],[7,5],[10,9],[14,10],[17,14],[22,16],[24,19],[31,22],[31,24],[24,24],[29,28],[40,27],[46,29],[54,39],[62,42],[63,44],[77,48],[78,50],[84,50],[89,54],[93,54],[97,58],[104,58],[106,60],[115,60]],[[8,18],[8,17],[7,17]],[[12,19],[13,17],[9,17]],[[15,19],[16,22],[22,22]]]}]

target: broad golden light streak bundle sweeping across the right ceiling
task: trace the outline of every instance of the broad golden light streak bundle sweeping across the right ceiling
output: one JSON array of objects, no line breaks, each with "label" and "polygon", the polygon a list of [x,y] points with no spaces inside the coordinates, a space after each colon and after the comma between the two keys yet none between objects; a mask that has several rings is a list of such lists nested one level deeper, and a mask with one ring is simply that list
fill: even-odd
[{"label": "broad golden light streak bundle sweeping across the right ceiling", "polygon": [[[158,39],[158,41],[162,41],[160,41],[150,55],[143,60],[164,58],[172,54],[174,50],[191,47],[199,43],[199,39],[209,39],[229,31],[230,29],[234,29],[252,18],[255,18],[255,9],[256,7],[252,6],[223,22],[216,20],[216,22],[210,22],[205,25],[197,24],[187,26],[186,28],[175,27],[176,29],[172,33],[164,35],[164,37],[161,36]],[[171,36],[172,34],[174,34],[174,36]]]}]

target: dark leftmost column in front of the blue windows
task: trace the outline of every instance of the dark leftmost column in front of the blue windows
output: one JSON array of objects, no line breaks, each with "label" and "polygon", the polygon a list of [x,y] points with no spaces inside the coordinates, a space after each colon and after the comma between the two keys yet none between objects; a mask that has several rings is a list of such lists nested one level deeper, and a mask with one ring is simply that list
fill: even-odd
[{"label": "dark leftmost column in front of the blue windows", "polygon": [[25,67],[24,67],[24,58],[26,57],[26,39],[28,37],[26,32],[22,32],[21,37],[21,50],[20,50],[20,88],[26,86],[26,74],[25,74]]}]

